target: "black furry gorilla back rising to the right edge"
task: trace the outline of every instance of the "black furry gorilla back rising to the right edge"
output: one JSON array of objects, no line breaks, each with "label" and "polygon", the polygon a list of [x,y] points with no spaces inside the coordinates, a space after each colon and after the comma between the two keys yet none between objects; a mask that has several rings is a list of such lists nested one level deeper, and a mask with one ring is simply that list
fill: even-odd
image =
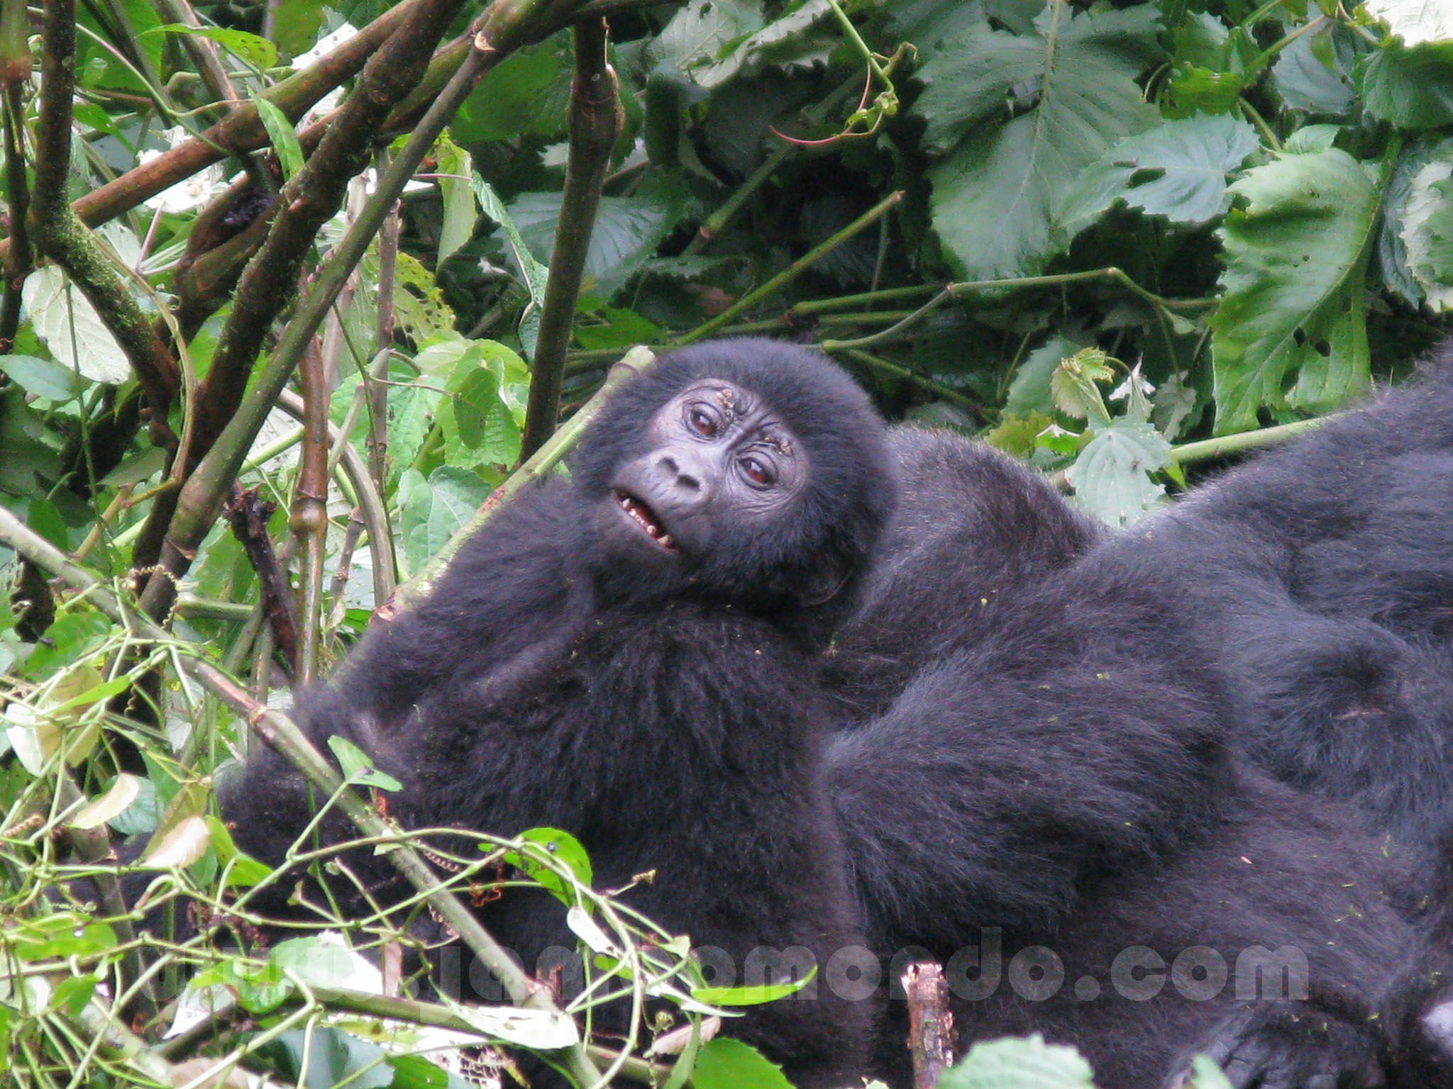
[{"label": "black furry gorilla back rising to the right edge", "polygon": [[1197,617],[1279,778],[1427,845],[1453,819],[1453,346],[1107,550]]}]

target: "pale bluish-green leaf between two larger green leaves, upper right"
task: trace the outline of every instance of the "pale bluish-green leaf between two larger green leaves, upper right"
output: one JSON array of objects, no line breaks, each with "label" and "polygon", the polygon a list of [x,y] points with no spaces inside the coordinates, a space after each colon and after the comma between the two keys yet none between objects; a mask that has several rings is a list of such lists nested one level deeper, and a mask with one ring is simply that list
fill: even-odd
[{"label": "pale bluish-green leaf between two larger green leaves, upper right", "polygon": [[1119,199],[1171,222],[1209,222],[1231,208],[1226,174],[1258,147],[1255,129],[1237,118],[1167,121],[1101,155],[1075,183],[1058,218],[1075,235]]}]

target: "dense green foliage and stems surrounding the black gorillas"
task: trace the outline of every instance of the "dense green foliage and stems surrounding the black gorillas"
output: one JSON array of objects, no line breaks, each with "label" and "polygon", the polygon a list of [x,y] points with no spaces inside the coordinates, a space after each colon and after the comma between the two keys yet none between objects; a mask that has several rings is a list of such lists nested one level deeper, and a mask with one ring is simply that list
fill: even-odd
[{"label": "dense green foliage and stems surrounding the black gorillas", "polygon": [[[1396,378],[1453,311],[1453,16],[1417,0],[0,0],[0,1064],[25,1085],[180,1085],[202,1056],[443,1085],[395,1044],[580,1041],[555,1009],[391,1003],[331,934],[142,948],[96,864],[145,844],[153,908],[251,948],[247,890],[325,858],[237,854],[214,777],[628,347],[817,343],[886,411],[1129,523]],[[671,935],[642,957],[649,922],[564,833],[479,847],[455,889],[514,861],[574,908],[604,980],[580,1008],[671,999],[695,1083],[741,1083],[751,1056],[697,1029],[770,995],[700,987]],[[349,932],[385,966],[407,941]],[[953,1085],[1087,1082],[1045,1054]]]}]

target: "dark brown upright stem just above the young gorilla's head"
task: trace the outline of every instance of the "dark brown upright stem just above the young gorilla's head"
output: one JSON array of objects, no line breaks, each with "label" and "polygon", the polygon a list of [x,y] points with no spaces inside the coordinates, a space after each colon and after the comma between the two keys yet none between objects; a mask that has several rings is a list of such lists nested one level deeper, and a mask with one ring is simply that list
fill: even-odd
[{"label": "dark brown upright stem just above the young gorilla's head", "polygon": [[575,299],[600,208],[600,189],[610,168],[610,151],[623,123],[616,74],[606,61],[606,20],[587,19],[575,26],[570,158],[530,366],[530,399],[520,436],[522,460],[543,446],[559,417],[559,388],[565,375],[565,351],[575,327]]}]

